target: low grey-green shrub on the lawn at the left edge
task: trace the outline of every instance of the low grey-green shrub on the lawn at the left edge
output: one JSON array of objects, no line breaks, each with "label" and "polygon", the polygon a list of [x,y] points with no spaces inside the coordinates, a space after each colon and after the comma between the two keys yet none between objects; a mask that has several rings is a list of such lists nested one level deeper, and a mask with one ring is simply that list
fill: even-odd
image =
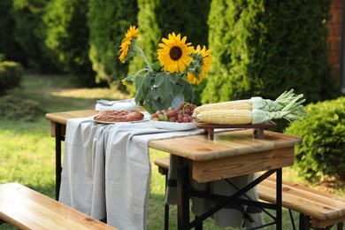
[{"label": "low grey-green shrub on the lawn at the left edge", "polygon": [[0,117],[3,119],[34,121],[42,118],[42,113],[40,103],[32,99],[15,95],[0,97]]}]

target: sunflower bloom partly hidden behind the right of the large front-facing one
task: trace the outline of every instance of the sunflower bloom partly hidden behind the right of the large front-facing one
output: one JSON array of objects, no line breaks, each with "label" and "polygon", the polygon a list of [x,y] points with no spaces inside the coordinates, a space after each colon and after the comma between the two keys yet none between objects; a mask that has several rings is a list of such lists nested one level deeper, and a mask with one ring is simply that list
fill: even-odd
[{"label": "sunflower bloom partly hidden behind the right of the large front-facing one", "polygon": [[[200,45],[196,47],[194,54],[192,55],[196,59],[195,72],[190,72],[187,75],[187,80],[192,84],[200,84],[203,80],[203,76],[210,70],[211,67],[211,50],[206,50],[203,46],[203,50]],[[198,78],[196,77],[198,76]]]}]

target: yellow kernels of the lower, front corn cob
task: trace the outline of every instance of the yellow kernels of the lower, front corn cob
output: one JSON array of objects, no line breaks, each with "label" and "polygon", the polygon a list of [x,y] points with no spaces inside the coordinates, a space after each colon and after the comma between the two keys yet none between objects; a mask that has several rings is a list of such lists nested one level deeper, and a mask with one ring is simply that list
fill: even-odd
[{"label": "yellow kernels of the lower, front corn cob", "polygon": [[210,124],[248,125],[252,122],[253,113],[249,110],[201,111],[196,119]]}]

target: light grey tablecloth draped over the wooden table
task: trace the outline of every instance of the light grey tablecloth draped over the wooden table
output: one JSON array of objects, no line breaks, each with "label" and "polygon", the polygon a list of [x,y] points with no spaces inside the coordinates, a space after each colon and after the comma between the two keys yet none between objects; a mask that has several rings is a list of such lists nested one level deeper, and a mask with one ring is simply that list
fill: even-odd
[{"label": "light grey tablecloth draped over the wooden table", "polygon": [[[107,125],[92,118],[68,119],[59,201],[96,219],[106,219],[119,229],[146,229],[149,141],[202,133],[200,129],[157,129],[149,122]],[[248,177],[245,179],[247,183]],[[193,184],[196,188],[205,186]],[[225,186],[219,180],[211,187],[217,192]],[[173,193],[171,189],[168,203],[175,202]],[[256,194],[253,197],[257,198]],[[199,207],[196,203],[194,211],[203,210]],[[225,219],[230,219],[228,214]]]}]

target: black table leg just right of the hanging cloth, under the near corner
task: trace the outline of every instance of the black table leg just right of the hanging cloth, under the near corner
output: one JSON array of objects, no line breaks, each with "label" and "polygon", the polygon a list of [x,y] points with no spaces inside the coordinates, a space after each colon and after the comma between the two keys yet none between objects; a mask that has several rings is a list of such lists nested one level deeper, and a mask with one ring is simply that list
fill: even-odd
[{"label": "black table leg just right of the hanging cloth, under the near corner", "polygon": [[189,169],[183,157],[177,163],[177,212],[178,228],[189,229]]}]

